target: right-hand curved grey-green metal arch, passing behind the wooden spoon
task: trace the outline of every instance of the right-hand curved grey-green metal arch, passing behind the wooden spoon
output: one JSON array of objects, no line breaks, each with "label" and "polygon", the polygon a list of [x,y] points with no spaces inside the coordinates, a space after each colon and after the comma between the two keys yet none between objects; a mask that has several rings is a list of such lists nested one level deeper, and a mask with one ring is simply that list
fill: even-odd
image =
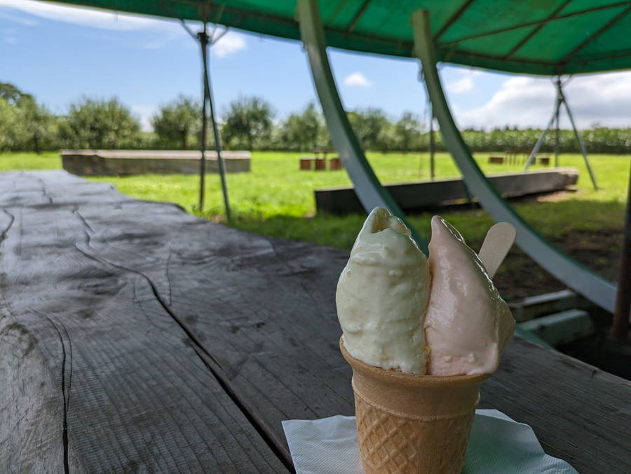
[{"label": "right-hand curved grey-green metal arch, passing behind the wooden spoon", "polygon": [[554,245],[546,241],[498,194],[493,185],[475,163],[473,156],[459,133],[454,118],[449,111],[445,93],[436,70],[436,57],[431,35],[429,13],[416,11],[412,15],[414,28],[414,51],[421,60],[423,76],[433,111],[440,125],[447,149],[460,168],[468,189],[491,216],[498,222],[510,222],[517,229],[517,244],[535,262],[552,273],[577,292],[585,295],[595,304],[613,312],[616,299],[616,286],[586,269]]}]

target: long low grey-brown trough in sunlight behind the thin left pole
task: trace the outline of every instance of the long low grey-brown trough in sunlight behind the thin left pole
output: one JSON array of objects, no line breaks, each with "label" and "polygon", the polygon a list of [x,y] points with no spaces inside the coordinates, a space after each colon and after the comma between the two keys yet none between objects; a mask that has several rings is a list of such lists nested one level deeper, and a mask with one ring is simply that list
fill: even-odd
[{"label": "long low grey-brown trough in sunlight behind the thin left pole", "polygon": [[[250,151],[224,151],[226,172],[250,172]],[[62,150],[67,172],[79,176],[195,175],[201,151],[182,150]],[[206,170],[219,172],[217,152],[206,151]]]}]

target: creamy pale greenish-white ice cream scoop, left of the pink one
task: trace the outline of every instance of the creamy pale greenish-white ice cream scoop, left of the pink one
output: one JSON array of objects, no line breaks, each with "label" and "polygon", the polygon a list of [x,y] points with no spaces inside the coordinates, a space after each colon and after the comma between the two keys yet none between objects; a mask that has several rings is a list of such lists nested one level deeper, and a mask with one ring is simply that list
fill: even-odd
[{"label": "creamy pale greenish-white ice cream scoop, left of the pink one", "polygon": [[374,208],[337,283],[344,347],[367,364],[426,373],[428,262],[405,224]]}]

